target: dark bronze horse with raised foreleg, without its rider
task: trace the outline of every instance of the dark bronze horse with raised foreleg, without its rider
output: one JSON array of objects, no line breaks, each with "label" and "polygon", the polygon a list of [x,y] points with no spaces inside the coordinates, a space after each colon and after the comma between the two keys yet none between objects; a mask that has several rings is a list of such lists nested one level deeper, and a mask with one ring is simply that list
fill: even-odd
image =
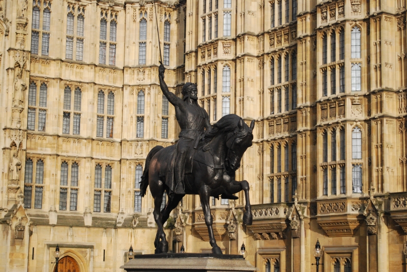
[{"label": "dark bronze horse with raised foreleg, without its rider", "polygon": [[[196,146],[191,160],[191,173],[185,172],[185,194],[199,195],[205,223],[208,227],[212,253],[215,254],[222,254],[222,251],[216,244],[212,229],[211,196],[218,198],[222,195],[223,198],[238,199],[233,194],[243,190],[246,198],[243,223],[251,225],[253,221],[249,200],[249,183],[247,180],[241,182],[235,180],[235,171],[240,167],[242,156],[246,149],[252,145],[253,128],[254,120],[249,127],[236,114],[223,116],[214,125],[212,131],[206,134],[205,139]],[[150,185],[150,191],[154,198],[153,215],[158,226],[154,241],[156,254],[168,252],[168,242],[163,230],[163,223],[167,221],[171,210],[178,206],[185,195],[170,192],[169,187],[165,184],[165,174],[163,173],[166,173],[171,167],[171,161],[168,158],[172,158],[174,151],[174,145],[165,148],[157,145],[152,148],[147,155],[141,176],[140,195],[144,196]],[[171,195],[169,195],[165,207],[160,210],[164,192]]]}]

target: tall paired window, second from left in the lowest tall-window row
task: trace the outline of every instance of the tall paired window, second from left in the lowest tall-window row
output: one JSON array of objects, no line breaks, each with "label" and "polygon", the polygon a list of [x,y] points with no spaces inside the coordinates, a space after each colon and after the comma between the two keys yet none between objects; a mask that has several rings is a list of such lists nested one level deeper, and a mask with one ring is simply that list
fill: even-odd
[{"label": "tall paired window, second from left in the lowest tall-window row", "polygon": [[[68,170],[69,164],[65,161],[62,162],[60,181],[60,210],[67,210],[68,206],[69,210],[77,210],[79,165],[76,162],[72,163],[70,175],[68,174]],[[68,183],[69,179],[71,181],[70,183]]]}]

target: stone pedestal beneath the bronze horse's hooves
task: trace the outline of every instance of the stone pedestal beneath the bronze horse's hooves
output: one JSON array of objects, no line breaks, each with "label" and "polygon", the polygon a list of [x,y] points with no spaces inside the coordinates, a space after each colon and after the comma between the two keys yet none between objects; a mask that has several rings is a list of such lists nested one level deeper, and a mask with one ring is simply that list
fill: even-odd
[{"label": "stone pedestal beneath the bronze horse's hooves", "polygon": [[257,271],[241,255],[169,253],[136,255],[120,268],[128,272],[215,272]]}]

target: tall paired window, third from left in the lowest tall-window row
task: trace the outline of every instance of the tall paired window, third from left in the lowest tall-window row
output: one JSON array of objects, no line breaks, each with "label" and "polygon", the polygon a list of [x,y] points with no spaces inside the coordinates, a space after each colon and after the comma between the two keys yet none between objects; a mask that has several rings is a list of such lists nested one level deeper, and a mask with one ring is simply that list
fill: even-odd
[{"label": "tall paired window, third from left in the lowest tall-window row", "polygon": [[110,213],[111,211],[111,195],[112,195],[112,168],[110,165],[106,165],[104,176],[102,176],[102,165],[97,164],[95,166],[95,192],[93,211],[100,213],[103,199],[103,212]]}]

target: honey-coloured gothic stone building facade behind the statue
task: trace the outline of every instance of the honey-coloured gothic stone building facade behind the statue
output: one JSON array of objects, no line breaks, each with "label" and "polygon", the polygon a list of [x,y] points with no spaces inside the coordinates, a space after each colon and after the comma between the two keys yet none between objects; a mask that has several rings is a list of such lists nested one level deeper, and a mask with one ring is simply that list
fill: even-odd
[{"label": "honey-coloured gothic stone building facade behind the statue", "polygon": [[[242,193],[212,199],[225,254],[244,243],[259,271],[313,271],[318,239],[322,271],[402,271],[406,14],[406,0],[0,0],[0,271],[53,271],[56,245],[81,272],[154,252],[140,177],[179,133],[161,55],[170,91],[196,83],[212,124],[255,120],[236,172],[253,225]],[[171,251],[210,252],[199,203],[166,223]]]}]

